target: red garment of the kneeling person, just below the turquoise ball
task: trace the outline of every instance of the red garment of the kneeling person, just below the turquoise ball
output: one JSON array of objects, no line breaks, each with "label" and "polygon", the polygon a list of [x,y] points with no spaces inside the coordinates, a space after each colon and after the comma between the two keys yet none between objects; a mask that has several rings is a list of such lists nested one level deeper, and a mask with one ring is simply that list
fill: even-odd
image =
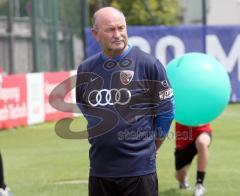
[{"label": "red garment of the kneeling person, just below the turquoise ball", "polygon": [[210,124],[191,127],[176,122],[176,149],[183,149],[191,144],[201,133],[212,133]]}]

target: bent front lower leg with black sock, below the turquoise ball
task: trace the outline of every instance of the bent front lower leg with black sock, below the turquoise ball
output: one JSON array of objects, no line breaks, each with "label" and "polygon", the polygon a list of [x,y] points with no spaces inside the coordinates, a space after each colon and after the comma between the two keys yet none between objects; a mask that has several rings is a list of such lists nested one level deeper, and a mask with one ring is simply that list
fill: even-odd
[{"label": "bent front lower leg with black sock, below the turquoise ball", "polygon": [[208,164],[208,146],[211,143],[209,134],[202,133],[196,139],[195,145],[197,148],[197,176],[196,183],[203,184],[204,176]]}]

